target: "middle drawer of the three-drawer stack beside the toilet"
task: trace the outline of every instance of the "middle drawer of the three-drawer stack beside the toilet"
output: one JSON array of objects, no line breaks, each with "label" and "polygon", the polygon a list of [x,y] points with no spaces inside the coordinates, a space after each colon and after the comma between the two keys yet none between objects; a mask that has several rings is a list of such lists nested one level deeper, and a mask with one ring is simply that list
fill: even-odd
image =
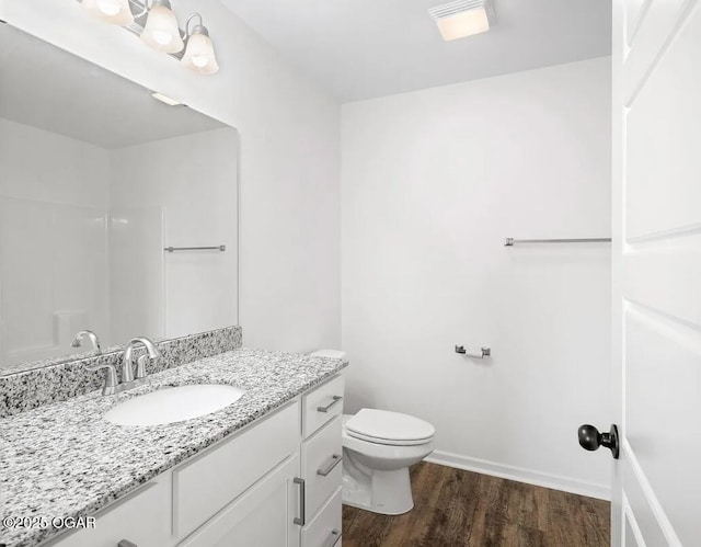
[{"label": "middle drawer of the three-drawer stack beside the toilet", "polygon": [[307,491],[304,509],[310,517],[341,486],[342,454],[341,417],[334,418],[302,443],[301,472]]}]

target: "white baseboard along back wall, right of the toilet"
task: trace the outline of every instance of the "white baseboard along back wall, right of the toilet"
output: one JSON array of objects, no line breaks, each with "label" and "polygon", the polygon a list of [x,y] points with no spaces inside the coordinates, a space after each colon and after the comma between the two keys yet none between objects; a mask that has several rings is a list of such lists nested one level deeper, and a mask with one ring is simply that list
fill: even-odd
[{"label": "white baseboard along back wall, right of the toilet", "polygon": [[460,454],[450,452],[435,451],[430,456],[425,458],[432,464],[445,465],[457,469],[466,469],[468,471],[491,475],[503,479],[516,480],[538,487],[552,488],[562,490],[563,492],[576,493],[579,495],[588,495],[599,500],[611,500],[611,487],[609,485],[597,485],[595,482],[585,482],[583,480],[570,479],[558,475],[550,475],[521,467],[509,466],[505,464],[496,464],[486,459],[471,458]]}]

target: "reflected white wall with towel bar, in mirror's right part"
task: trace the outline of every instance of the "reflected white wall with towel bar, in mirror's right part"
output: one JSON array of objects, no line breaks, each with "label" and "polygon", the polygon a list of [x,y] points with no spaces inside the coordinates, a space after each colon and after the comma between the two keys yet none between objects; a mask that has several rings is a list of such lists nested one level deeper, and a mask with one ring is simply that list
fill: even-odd
[{"label": "reflected white wall with towel bar, in mirror's right part", "polygon": [[114,340],[137,324],[164,338],[237,324],[238,148],[227,127],[112,151]]}]

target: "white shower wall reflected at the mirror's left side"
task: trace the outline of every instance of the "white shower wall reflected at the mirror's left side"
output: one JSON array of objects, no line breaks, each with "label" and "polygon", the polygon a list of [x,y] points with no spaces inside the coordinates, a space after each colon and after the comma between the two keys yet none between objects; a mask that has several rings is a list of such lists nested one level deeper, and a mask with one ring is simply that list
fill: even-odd
[{"label": "white shower wall reflected at the mirror's left side", "polygon": [[108,327],[108,153],[0,118],[0,363],[76,353]]}]

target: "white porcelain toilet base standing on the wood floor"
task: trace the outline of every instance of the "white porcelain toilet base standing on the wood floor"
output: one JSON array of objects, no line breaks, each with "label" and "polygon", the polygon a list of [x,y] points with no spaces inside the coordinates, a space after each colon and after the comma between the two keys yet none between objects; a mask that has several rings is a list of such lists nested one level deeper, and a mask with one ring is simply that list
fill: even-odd
[{"label": "white porcelain toilet base standing on the wood floor", "polygon": [[414,509],[409,467],[353,475],[343,477],[344,504],[383,515],[401,515]]}]

